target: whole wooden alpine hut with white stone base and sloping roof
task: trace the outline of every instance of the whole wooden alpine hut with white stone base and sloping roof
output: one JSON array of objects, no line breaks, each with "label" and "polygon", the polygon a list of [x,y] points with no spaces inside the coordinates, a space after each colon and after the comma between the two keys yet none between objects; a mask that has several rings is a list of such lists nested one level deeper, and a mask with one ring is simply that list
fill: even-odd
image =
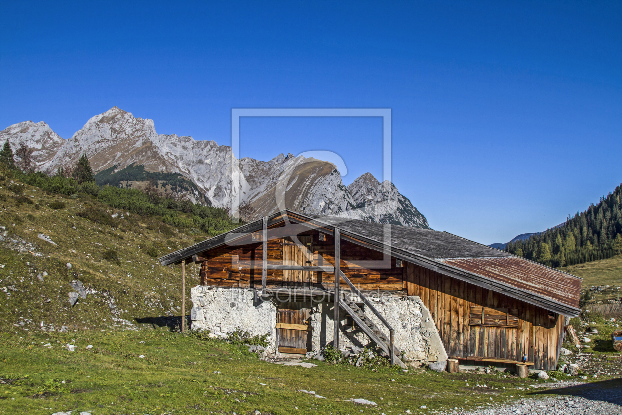
[{"label": "whole wooden alpine hut with white stone base and sloping roof", "polygon": [[290,211],[160,262],[200,264],[193,329],[269,333],[274,353],[330,344],[376,347],[404,367],[552,370],[580,312],[571,274],[447,232]]}]

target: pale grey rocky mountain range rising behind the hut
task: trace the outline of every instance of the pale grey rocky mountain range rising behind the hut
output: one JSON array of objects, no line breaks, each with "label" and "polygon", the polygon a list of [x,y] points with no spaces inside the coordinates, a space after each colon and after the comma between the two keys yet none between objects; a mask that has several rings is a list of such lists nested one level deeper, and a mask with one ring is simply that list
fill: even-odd
[{"label": "pale grey rocky mountain range rising behind the hut", "polygon": [[[86,154],[93,170],[106,172],[108,180],[114,174],[129,177],[143,166],[141,179],[116,185],[141,188],[147,180],[156,180],[164,191],[170,183],[149,174],[180,174],[194,186],[174,189],[192,202],[230,209],[241,203],[250,207],[250,218],[287,207],[314,215],[428,227],[425,218],[394,185],[383,184],[381,189],[370,174],[350,185],[355,198],[330,162],[292,154],[279,154],[267,162],[249,157],[238,160],[229,146],[157,134],[152,119],[136,118],[116,106],[93,116],[67,140],[53,134],[45,123],[37,123],[42,124],[39,128],[31,124],[34,125],[30,121],[15,124],[0,134],[14,147],[21,140],[30,147],[45,149],[37,154],[39,170],[54,172],[58,167],[75,166],[78,158]],[[50,139],[45,141],[47,137]]]}]

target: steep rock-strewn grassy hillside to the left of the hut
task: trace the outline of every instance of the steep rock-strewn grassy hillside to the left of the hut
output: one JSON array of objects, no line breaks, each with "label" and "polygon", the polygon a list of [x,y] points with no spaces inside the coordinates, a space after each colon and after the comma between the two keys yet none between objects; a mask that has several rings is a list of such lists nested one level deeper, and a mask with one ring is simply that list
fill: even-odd
[{"label": "steep rock-strewn grassy hillside to the left of the hut", "polygon": [[[180,268],[162,267],[156,258],[206,233],[183,233],[94,196],[63,197],[9,179],[0,183],[0,207],[0,330],[103,330],[169,316],[179,322]],[[198,267],[188,271],[187,286],[193,286]],[[72,307],[73,280],[88,294]]]}]

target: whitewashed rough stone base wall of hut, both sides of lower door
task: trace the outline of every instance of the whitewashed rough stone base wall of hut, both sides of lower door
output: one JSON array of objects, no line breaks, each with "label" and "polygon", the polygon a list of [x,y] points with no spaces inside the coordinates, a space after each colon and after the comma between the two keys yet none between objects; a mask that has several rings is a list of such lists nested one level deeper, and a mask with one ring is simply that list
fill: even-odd
[{"label": "whitewashed rough stone base wall of hut, both sides of lower door", "polygon": [[[193,330],[207,329],[215,337],[225,337],[236,327],[253,335],[269,333],[268,350],[276,352],[277,305],[272,301],[253,304],[253,290],[196,286],[191,290]],[[404,353],[403,360],[412,365],[447,360],[447,353],[440,340],[429,310],[419,297],[368,298],[374,307],[395,329],[394,342]],[[333,304],[313,304],[312,348],[318,351],[333,341]],[[373,312],[366,312],[381,330],[384,325]],[[364,333],[347,327],[346,314],[340,312],[340,348],[373,345]]]}]

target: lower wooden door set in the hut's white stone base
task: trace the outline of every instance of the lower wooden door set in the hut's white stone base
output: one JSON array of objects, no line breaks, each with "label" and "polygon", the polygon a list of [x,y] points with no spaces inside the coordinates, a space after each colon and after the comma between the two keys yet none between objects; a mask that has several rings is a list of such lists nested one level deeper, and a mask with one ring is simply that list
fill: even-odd
[{"label": "lower wooden door set in the hut's white stone base", "polygon": [[302,355],[310,350],[310,312],[302,303],[283,303],[279,307],[276,323],[279,352]]}]

